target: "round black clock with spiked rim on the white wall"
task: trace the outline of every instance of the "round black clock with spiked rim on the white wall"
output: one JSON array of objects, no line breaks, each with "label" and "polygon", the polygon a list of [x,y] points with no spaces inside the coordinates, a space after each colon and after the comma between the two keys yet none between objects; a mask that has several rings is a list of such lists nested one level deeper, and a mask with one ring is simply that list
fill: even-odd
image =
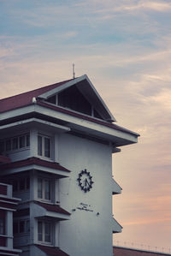
[{"label": "round black clock with spiked rim on the white wall", "polygon": [[81,170],[77,181],[79,182],[81,190],[84,190],[85,193],[91,190],[92,184],[94,183],[92,182],[92,176],[90,175],[90,172],[88,172],[86,169]]}]

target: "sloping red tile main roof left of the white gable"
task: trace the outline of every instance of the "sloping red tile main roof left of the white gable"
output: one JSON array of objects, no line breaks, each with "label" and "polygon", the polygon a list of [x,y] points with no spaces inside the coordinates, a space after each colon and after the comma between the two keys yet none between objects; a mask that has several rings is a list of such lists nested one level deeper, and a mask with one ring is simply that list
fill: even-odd
[{"label": "sloping red tile main roof left of the white gable", "polygon": [[0,113],[3,113],[8,110],[14,110],[17,108],[21,108],[23,106],[27,106],[29,104],[32,104],[32,98],[38,97],[38,95],[43,94],[44,92],[48,92],[52,89],[55,89],[58,86],[62,86],[63,84],[67,83],[69,80],[64,80],[62,82],[50,85],[50,86],[44,86],[35,90],[32,90],[30,92],[24,92],[9,98],[3,98],[0,99]]}]

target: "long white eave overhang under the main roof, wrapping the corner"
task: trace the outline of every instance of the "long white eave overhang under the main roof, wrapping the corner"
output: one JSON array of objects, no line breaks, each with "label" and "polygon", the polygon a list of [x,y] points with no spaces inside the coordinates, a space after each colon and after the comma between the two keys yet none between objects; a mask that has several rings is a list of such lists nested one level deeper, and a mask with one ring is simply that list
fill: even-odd
[{"label": "long white eave overhang under the main roof, wrapping the corner", "polygon": [[[84,134],[99,140],[106,140],[111,142],[113,146],[125,146],[138,141],[139,134],[133,133],[126,128],[121,128],[115,124],[97,120],[96,118],[80,113],[75,114],[71,110],[63,110],[60,107],[45,104],[44,102],[38,102],[38,104],[28,105],[27,107],[17,110],[10,110],[0,114],[0,117],[1,121],[5,121],[9,118],[13,118],[14,120],[15,116],[26,116],[30,113],[38,113],[41,116],[48,116],[49,118],[65,122],[65,126],[63,126],[65,131],[67,131],[66,128],[68,128],[74,133]],[[37,120],[32,120],[32,122],[40,123],[40,121]],[[44,125],[47,125],[47,128],[53,128],[50,123],[44,123]],[[5,126],[1,127],[5,130]]]}]

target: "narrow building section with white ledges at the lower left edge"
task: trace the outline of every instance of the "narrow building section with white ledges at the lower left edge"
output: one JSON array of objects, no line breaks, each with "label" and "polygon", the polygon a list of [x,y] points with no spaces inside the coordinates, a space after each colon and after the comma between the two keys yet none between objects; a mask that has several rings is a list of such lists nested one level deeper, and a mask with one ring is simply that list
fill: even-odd
[{"label": "narrow building section with white ledges at the lower left edge", "polygon": [[[5,158],[0,158],[2,163]],[[13,247],[13,212],[19,199],[12,197],[12,186],[0,183],[0,255],[18,256]]]}]

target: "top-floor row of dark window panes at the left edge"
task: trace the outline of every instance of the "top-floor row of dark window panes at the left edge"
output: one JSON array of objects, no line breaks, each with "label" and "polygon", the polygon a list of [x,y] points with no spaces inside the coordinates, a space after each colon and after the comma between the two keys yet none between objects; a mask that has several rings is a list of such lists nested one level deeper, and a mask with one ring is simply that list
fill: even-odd
[{"label": "top-floor row of dark window panes at the left edge", "polygon": [[17,151],[30,146],[30,135],[23,134],[0,141],[0,153]]}]

